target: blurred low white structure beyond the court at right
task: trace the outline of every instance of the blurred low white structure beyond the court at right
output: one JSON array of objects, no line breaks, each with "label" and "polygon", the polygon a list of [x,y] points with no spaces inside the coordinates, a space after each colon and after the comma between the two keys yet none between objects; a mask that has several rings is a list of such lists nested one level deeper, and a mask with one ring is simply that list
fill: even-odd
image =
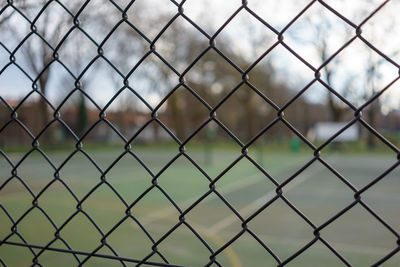
[{"label": "blurred low white structure beyond the court at right", "polygon": [[[334,134],[339,132],[341,129],[346,127],[346,122],[318,122],[314,125],[314,127],[309,131],[308,138],[310,140],[328,140]],[[333,141],[336,142],[349,142],[349,141],[357,141],[360,137],[360,128],[357,124],[351,125],[344,132],[342,132],[339,136],[337,136]]]}]

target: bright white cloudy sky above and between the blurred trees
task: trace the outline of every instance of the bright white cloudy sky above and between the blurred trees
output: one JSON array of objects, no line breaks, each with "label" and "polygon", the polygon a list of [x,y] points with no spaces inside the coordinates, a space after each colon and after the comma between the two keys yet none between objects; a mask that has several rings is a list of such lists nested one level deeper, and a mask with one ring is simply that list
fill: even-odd
[{"label": "bright white cloudy sky above and between the blurred trees", "polygon": [[[176,12],[176,7],[168,0],[146,1],[149,5],[156,6],[159,10],[162,10],[161,12],[169,12],[171,15]],[[327,0],[325,2],[341,12],[353,23],[359,24],[384,1]],[[248,0],[248,6],[278,31],[282,30],[308,3],[310,3],[309,0]],[[209,34],[213,34],[240,5],[240,0],[187,0],[184,4],[184,12]],[[398,37],[400,36],[400,27],[393,27],[393,25],[400,25],[400,19],[398,18],[398,14],[400,13],[399,6],[399,3],[396,3],[396,1],[389,2],[362,27],[363,36],[382,50],[382,52],[389,55],[395,62],[400,62],[400,55],[396,54],[396,49],[400,47],[400,38]],[[328,50],[330,53],[334,53],[340,48],[340,46],[350,39],[355,32],[351,26],[344,23],[343,20],[332,14],[320,3],[316,2],[284,34],[285,42],[315,68],[318,68],[321,64],[315,41],[318,41],[319,38],[323,38],[315,31],[315,25],[322,23],[330,23],[332,25],[329,32],[324,32],[324,38],[328,40]],[[4,40],[5,38],[10,38],[10,36],[1,36],[1,42],[10,43]],[[239,15],[224,29],[220,38],[224,38],[224,36],[232,39],[233,50],[239,51],[243,56],[249,59],[255,59],[277,40],[276,35],[272,31],[263,26],[246,11],[239,13]],[[254,49],[248,40],[261,40],[262,45]],[[10,49],[12,48],[13,47],[10,47]],[[370,51],[370,49],[364,43],[360,40],[356,40],[339,54],[337,60],[331,63],[335,64],[335,68],[337,69],[334,79],[335,89],[342,91],[344,81],[350,76],[354,76],[353,86],[357,94],[366,90],[365,66],[368,64],[368,60],[372,60],[372,62],[382,61],[382,58],[378,54],[374,52],[369,53],[368,51]],[[23,65],[21,59],[19,60]],[[313,79],[314,73],[291,55],[283,46],[278,46],[265,60],[270,60],[270,63],[278,70],[277,78],[288,82],[289,86],[295,91],[300,90]],[[7,64],[8,61],[8,53],[0,47],[0,68]],[[398,76],[397,68],[384,61],[380,64],[378,73],[379,75],[377,75],[375,81],[377,90],[383,88]],[[98,92],[99,88],[101,88],[101,94],[92,94],[92,96],[96,101],[102,103],[105,103],[116,89],[114,88],[115,84],[108,78],[105,78],[106,76],[107,75],[98,73],[96,78],[90,83],[92,90]],[[51,81],[50,88],[53,87],[54,89],[49,90],[50,98],[56,98],[56,94],[58,93],[56,87],[58,87],[59,84],[60,80],[57,79],[57,77]],[[2,75],[0,75],[0,95],[5,98],[18,99],[22,95],[25,95],[30,88],[31,82],[14,66],[8,67]],[[307,96],[312,101],[322,101],[325,92],[326,90],[321,86],[314,86],[314,88],[309,90]],[[400,108],[399,84],[394,84],[383,98],[384,112],[390,109]],[[158,101],[155,95],[149,95],[149,99],[151,99],[150,101],[152,102]]]}]

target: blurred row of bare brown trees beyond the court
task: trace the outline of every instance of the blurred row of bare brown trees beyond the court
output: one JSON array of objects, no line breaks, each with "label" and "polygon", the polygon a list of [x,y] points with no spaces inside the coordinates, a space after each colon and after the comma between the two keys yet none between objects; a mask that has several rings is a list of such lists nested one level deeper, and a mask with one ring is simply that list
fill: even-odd
[{"label": "blurred row of bare brown trees beyond the court", "polygon": [[[15,1],[15,5],[29,18],[43,7],[42,1],[29,1],[29,5]],[[267,55],[253,66],[260,56],[258,53],[254,57],[253,52],[269,48],[264,40],[249,40],[244,47],[237,35],[224,31],[210,40],[207,32],[181,16],[169,24],[175,11],[154,11],[144,1],[128,9],[125,18],[121,18],[123,10],[110,2],[91,5],[80,15],[79,24],[56,2],[49,5],[41,14],[35,33],[27,39],[24,37],[30,32],[30,25],[19,23],[23,18],[15,10],[10,9],[6,19],[1,20],[1,31],[13,33],[2,44],[13,51],[23,40],[16,62],[32,81],[27,86],[37,88],[22,105],[24,95],[2,99],[3,143],[31,141],[27,130],[34,136],[40,134],[50,144],[82,136],[86,136],[85,140],[111,142],[119,140],[119,133],[129,139],[156,111],[159,122],[182,141],[215,116],[217,123],[211,122],[196,138],[204,138],[205,132],[212,130],[215,138],[227,140],[228,134],[222,130],[226,127],[246,142],[277,118],[281,114],[278,110],[293,98],[284,110],[284,118],[303,135],[318,121],[347,121],[354,117],[354,112],[327,88],[328,94],[322,94],[319,103],[297,95],[303,85],[288,81],[301,74],[277,68],[273,60],[279,58]],[[71,3],[67,8],[75,14],[81,4]],[[49,20],[52,23],[45,23]],[[248,28],[250,33],[252,30]],[[329,56],[326,43],[317,50],[322,61]],[[6,74],[3,71],[1,75]],[[322,70],[324,77],[327,86],[334,87],[334,66]],[[350,90],[352,83],[341,86]],[[113,99],[112,95],[117,97]],[[109,103],[111,99],[113,102]],[[379,105],[375,101],[366,109],[367,120],[374,127],[385,124]],[[15,118],[15,107],[19,121],[10,122]],[[92,129],[99,119],[102,122]],[[42,133],[45,127],[47,130]],[[267,135],[289,137],[293,132],[279,123]],[[154,121],[137,139],[170,138]]]}]

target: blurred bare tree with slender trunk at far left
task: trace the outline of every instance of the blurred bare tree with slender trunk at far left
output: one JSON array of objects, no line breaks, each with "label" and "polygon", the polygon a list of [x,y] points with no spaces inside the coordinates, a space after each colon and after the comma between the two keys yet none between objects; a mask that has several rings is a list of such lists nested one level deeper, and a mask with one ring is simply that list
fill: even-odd
[{"label": "blurred bare tree with slender trunk at far left", "polygon": [[[12,12],[1,21],[13,33],[15,40],[23,40],[19,48],[22,58],[16,60],[20,63],[27,63],[32,78],[38,82],[37,88],[41,94],[38,101],[40,129],[43,129],[50,120],[46,98],[48,96],[48,82],[52,75],[51,63],[55,61],[54,49],[58,45],[68,22],[72,21],[71,17],[57,16],[57,14],[49,12],[50,3],[46,2],[42,0],[14,1],[15,9],[9,7]],[[31,35],[27,39],[23,39],[25,36],[20,36],[24,34],[23,26],[13,20],[13,16],[20,16],[19,12],[24,14],[27,22],[32,25]],[[49,140],[53,138],[51,131],[51,128],[49,128],[45,132],[45,136]]]}]

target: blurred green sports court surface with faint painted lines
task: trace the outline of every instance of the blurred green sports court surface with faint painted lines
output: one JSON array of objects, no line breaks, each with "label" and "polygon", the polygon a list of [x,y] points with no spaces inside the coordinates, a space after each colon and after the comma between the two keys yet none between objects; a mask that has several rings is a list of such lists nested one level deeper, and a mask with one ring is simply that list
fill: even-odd
[{"label": "blurred green sports court surface with faint painted lines", "polygon": [[[149,167],[154,175],[178,155],[178,149],[142,146],[132,150]],[[70,151],[48,152],[55,166],[60,166]],[[123,156],[109,171],[108,167],[123,153],[118,149],[95,149],[87,153],[105,171],[105,180],[90,195],[87,193],[101,182],[101,173],[82,153],[75,154],[59,172],[60,178],[78,199],[84,199],[82,210],[60,231],[60,237],[78,251],[92,252],[101,245],[101,234],[109,235],[106,243],[121,257],[142,259],[152,252],[150,238],[130,217],[126,217],[126,206],[116,196],[115,189],[128,205],[152,186],[152,176],[130,154]],[[212,164],[205,162],[200,148],[187,149],[186,153],[215,179],[227,166],[240,157],[240,149],[214,149]],[[285,151],[250,151],[255,161],[277,182],[281,183],[313,158],[312,153],[290,153]],[[18,162],[22,153],[10,153],[10,159]],[[361,189],[393,164],[393,154],[321,154],[321,157],[340,174]],[[38,152],[33,152],[18,167],[17,175],[38,194],[53,179],[54,169]],[[11,175],[11,167],[0,160],[0,182]],[[381,181],[365,191],[361,199],[382,219],[400,231],[400,171],[395,168]],[[170,196],[182,211],[209,191],[210,182],[183,155],[179,156],[157,179],[158,185]],[[247,158],[242,158],[215,184],[216,190],[243,218],[248,218],[268,200],[276,196],[276,186],[262,174]],[[221,197],[211,192],[185,215],[192,230],[195,230],[217,251],[242,230],[241,221],[224,204]],[[354,201],[354,192],[320,162],[315,161],[295,179],[283,187],[283,196],[295,205],[310,221],[319,226]],[[18,220],[32,207],[33,197],[17,178],[11,179],[0,191],[0,203],[14,220]],[[59,181],[54,182],[38,198],[39,208],[33,208],[17,229],[29,244],[46,246],[54,240],[56,227],[77,211],[77,201]],[[209,261],[210,251],[184,224],[165,239],[163,235],[179,223],[179,213],[167,197],[156,187],[130,209],[154,241],[163,238],[158,251],[172,264],[204,266]],[[85,215],[86,214],[86,215]],[[90,219],[89,219],[90,218]],[[92,224],[93,220],[98,229]],[[121,222],[122,220],[122,222]],[[0,239],[11,233],[12,223],[0,210]],[[313,228],[307,224],[285,201],[277,199],[249,223],[248,228],[268,246],[282,261],[300,250],[313,238]],[[364,207],[356,204],[343,216],[321,230],[321,237],[332,245],[354,266],[371,265],[396,248],[396,237]],[[21,243],[17,235],[8,241]],[[60,240],[51,244],[53,248],[66,249]],[[40,249],[35,249],[39,252]],[[107,246],[96,253],[113,255]],[[78,256],[81,260],[84,255]],[[25,247],[3,244],[0,258],[8,266],[29,266],[32,253]],[[245,232],[230,246],[217,255],[223,266],[274,266],[274,258],[260,243]],[[77,261],[73,255],[45,251],[38,261],[43,266],[71,266]],[[162,262],[157,255],[149,261]],[[384,266],[398,266],[400,255],[395,255]],[[127,263],[127,265],[134,265]],[[341,266],[344,265],[322,242],[317,241],[288,266]],[[85,266],[121,266],[119,261],[91,257]]]}]

